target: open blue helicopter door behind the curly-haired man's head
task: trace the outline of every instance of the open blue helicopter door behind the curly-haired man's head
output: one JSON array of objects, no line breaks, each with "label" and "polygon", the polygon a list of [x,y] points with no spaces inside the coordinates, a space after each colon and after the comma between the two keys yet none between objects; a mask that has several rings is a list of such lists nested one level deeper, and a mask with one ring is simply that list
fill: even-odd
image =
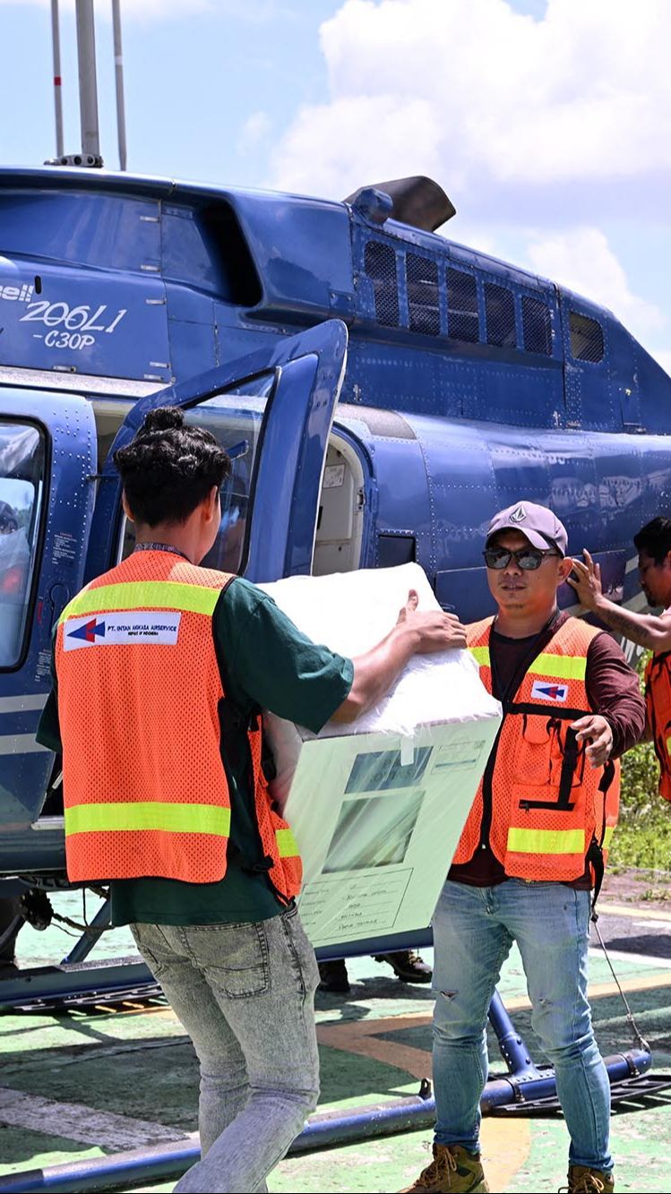
[{"label": "open blue helicopter door behind the curly-haired man's head", "polygon": [[[112,451],[128,443],[147,412],[180,406],[211,431],[232,461],[221,493],[217,540],[203,564],[253,581],[310,571],[328,433],[345,369],[347,328],[328,320],[298,336],[136,402]],[[111,455],[96,507],[88,572],[105,571],[133,549],[121,515]],[[115,480],[116,478],[116,480]],[[109,528],[113,527],[112,536]],[[104,544],[104,546],[103,546]]]}]

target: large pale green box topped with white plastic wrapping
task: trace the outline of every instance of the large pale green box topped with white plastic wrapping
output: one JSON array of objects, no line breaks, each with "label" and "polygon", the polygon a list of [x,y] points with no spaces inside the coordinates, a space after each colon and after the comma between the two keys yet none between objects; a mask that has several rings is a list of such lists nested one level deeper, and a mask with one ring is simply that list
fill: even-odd
[{"label": "large pale green box topped with white plastic wrapping", "polygon": [[[420,610],[438,608],[414,564],[261,587],[350,658],[384,638],[410,589]],[[414,656],[374,709],[318,736],[264,714],[271,792],[301,849],[301,916],[315,946],[429,923],[499,720],[467,651]]]}]

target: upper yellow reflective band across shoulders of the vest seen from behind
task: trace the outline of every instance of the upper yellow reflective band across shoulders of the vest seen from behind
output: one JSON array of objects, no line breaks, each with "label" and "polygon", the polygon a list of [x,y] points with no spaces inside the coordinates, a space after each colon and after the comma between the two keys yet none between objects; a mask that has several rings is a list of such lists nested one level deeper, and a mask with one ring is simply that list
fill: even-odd
[{"label": "upper yellow reflective band across shoulders of the vest seen from behind", "polygon": [[214,614],[221,589],[183,585],[174,580],[133,580],[123,585],[84,589],[66,605],[59,621],[82,614],[110,614],[127,609],[180,609],[190,614]]}]

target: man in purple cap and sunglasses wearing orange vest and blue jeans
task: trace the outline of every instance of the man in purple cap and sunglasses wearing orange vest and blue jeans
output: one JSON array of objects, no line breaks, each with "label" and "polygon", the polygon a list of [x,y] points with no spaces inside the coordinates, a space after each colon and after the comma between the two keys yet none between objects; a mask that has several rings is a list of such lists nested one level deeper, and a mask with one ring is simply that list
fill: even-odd
[{"label": "man in purple cap and sunglasses wearing orange vest and blue jeans", "polygon": [[617,757],[640,738],[636,676],[609,635],[558,610],[567,534],[518,501],[490,525],[497,603],[469,626],[480,676],[504,710],[433,916],[433,1161],[408,1190],[487,1190],[479,1150],[487,1009],[515,942],[531,1022],[571,1137],[568,1190],[610,1192],[610,1087],[586,995],[590,890],[617,818]]}]

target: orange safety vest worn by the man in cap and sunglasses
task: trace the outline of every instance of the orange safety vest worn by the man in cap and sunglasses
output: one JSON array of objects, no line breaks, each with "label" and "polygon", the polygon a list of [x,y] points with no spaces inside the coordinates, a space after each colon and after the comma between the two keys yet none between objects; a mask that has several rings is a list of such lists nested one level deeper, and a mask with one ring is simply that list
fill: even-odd
[{"label": "orange safety vest worn by the man in cap and sunglasses", "polygon": [[[468,627],[480,679],[492,691],[493,618]],[[587,648],[601,632],[575,617],[556,630],[529,665],[504,718],[461,836],[455,863],[487,841],[506,875],[568,882],[595,875],[617,824],[620,764],[591,768],[568,726],[590,713]]]}]

